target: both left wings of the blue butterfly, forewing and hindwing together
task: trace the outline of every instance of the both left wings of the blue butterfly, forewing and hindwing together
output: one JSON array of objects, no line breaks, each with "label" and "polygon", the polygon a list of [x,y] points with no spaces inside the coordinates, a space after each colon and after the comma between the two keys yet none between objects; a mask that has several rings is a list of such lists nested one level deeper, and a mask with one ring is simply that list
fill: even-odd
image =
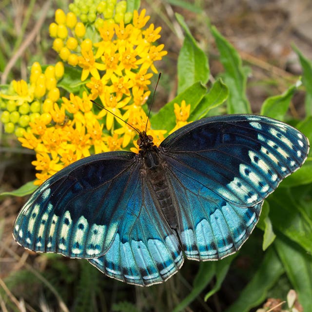
[{"label": "both left wings of the blue butterfly, forewing and hindwing together", "polygon": [[137,285],[176,273],[183,255],[158,215],[141,163],[128,152],[83,158],[45,181],[20,211],[13,235],[35,252],[86,258]]}]

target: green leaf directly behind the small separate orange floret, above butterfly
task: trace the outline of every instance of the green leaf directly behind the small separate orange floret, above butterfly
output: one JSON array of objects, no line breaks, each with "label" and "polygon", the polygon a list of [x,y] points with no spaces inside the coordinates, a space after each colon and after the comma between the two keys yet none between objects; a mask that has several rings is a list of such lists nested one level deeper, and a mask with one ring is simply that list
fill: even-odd
[{"label": "green leaf directly behind the small separate orange floret, above butterfly", "polygon": [[186,104],[191,104],[190,113],[192,114],[206,93],[207,88],[200,82],[195,82],[191,87],[163,106],[156,115],[151,117],[152,128],[172,130],[176,125],[174,104],[181,104],[182,100],[185,100]]}]

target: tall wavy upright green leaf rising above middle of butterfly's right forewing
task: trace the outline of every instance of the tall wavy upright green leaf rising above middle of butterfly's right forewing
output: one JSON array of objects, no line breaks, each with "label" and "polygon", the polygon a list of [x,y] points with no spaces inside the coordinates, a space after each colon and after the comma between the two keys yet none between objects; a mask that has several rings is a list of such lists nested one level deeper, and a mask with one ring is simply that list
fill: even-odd
[{"label": "tall wavy upright green leaf rising above middle of butterfly's right forewing", "polygon": [[212,26],[211,32],[220,53],[220,61],[225,69],[224,81],[229,88],[227,100],[229,114],[251,113],[250,103],[246,97],[247,71],[242,66],[234,47]]}]

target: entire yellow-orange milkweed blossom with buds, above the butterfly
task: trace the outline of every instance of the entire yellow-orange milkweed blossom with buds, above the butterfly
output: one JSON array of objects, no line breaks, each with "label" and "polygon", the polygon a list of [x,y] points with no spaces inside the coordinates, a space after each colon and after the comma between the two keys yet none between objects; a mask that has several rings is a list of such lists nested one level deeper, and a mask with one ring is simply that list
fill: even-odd
[{"label": "entire yellow-orange milkweed blossom with buds, above the butterfly", "polygon": [[[97,7],[103,19],[79,15],[78,0],[69,6],[72,12],[58,9],[49,32],[62,61],[46,67],[35,62],[29,82],[13,81],[11,90],[0,94],[7,101],[1,114],[5,131],[15,131],[22,146],[36,152],[36,185],[82,157],[121,148],[137,152],[137,132],[119,118],[138,131],[147,127],[157,145],[167,132],[152,130],[142,109],[157,73],[155,61],[167,54],[163,44],[156,44],[161,28],[147,25],[145,9],[126,12],[124,0],[115,7],[104,2]],[[70,68],[79,75],[76,87]],[[185,120],[177,117],[176,128]]]}]

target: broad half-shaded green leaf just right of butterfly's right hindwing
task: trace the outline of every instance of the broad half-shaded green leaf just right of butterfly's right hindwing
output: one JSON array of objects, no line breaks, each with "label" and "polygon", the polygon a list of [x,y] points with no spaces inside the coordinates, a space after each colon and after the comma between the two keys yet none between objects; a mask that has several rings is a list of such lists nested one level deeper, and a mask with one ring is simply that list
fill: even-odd
[{"label": "broad half-shaded green leaf just right of butterfly's right hindwing", "polygon": [[278,188],[268,197],[269,215],[274,230],[283,233],[312,254],[312,220],[301,200],[293,189]]}]

